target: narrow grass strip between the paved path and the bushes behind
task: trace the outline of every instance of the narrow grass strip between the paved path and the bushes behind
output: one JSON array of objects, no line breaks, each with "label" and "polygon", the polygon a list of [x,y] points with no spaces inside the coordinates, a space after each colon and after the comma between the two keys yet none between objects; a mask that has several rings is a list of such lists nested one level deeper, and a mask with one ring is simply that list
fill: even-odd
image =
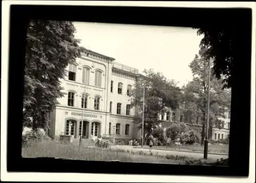
[{"label": "narrow grass strip between the paved path and the bushes behind", "polygon": [[[172,149],[172,150],[188,150],[188,151],[204,151],[204,146],[194,146],[194,145],[183,145],[181,147],[172,146],[153,146],[156,149]],[[228,145],[211,144],[208,145],[208,152],[216,153],[228,153]]]}]

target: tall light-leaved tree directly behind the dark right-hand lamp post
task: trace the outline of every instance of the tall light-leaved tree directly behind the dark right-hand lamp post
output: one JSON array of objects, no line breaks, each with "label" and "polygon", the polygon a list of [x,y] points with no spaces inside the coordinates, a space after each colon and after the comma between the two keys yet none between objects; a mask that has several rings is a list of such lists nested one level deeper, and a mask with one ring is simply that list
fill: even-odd
[{"label": "tall light-leaved tree directly behind the dark right-hand lamp post", "polygon": [[[208,86],[209,62],[204,57],[207,49],[202,48],[199,55],[190,63],[189,67],[193,73],[193,81],[184,87],[183,100],[186,102],[187,109],[194,111],[202,121],[201,144],[203,145],[205,137],[205,121],[207,113],[207,96],[210,91],[210,124],[209,132],[214,122],[224,115],[224,108],[230,106],[230,89],[224,89],[224,79],[218,80],[214,74],[210,76],[210,86]],[[212,70],[211,62],[211,70]],[[211,72],[212,73],[212,72]],[[209,133],[210,136],[210,133]]]}]

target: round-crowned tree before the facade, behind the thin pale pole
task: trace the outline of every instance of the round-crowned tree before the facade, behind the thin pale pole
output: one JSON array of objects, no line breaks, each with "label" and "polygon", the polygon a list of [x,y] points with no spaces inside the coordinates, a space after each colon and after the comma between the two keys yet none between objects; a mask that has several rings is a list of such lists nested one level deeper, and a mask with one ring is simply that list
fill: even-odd
[{"label": "round-crowned tree before the facade, behind the thin pale pole", "polygon": [[142,128],[143,87],[144,97],[144,134],[151,135],[160,123],[159,113],[166,111],[166,107],[175,109],[180,90],[174,81],[168,81],[160,72],[152,69],[144,70],[146,76],[140,76],[132,91],[131,105],[138,112],[134,122]]}]

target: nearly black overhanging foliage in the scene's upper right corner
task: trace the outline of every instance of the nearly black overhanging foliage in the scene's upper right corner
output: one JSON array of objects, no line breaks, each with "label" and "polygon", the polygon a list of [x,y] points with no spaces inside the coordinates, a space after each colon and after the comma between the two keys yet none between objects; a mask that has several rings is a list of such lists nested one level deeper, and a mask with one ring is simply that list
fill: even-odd
[{"label": "nearly black overhanging foliage in the scene's upper right corner", "polygon": [[[236,28],[237,29],[237,28]],[[221,79],[222,75],[225,76],[223,87],[230,88],[232,81],[232,68],[236,60],[237,39],[240,37],[240,32],[236,31],[234,27],[228,26],[226,28],[200,28],[197,32],[198,35],[204,35],[200,42],[200,47],[208,48],[203,57],[206,59],[214,59],[214,75],[217,79]]]}]

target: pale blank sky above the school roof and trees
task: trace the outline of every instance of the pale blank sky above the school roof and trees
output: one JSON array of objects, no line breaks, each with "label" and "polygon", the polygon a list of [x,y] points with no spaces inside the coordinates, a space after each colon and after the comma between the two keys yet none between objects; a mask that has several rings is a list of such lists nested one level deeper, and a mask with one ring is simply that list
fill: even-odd
[{"label": "pale blank sky above the school roof and trees", "polygon": [[74,22],[80,46],[137,68],[161,72],[182,86],[193,79],[189,63],[198,54],[202,36],[192,28]]}]

